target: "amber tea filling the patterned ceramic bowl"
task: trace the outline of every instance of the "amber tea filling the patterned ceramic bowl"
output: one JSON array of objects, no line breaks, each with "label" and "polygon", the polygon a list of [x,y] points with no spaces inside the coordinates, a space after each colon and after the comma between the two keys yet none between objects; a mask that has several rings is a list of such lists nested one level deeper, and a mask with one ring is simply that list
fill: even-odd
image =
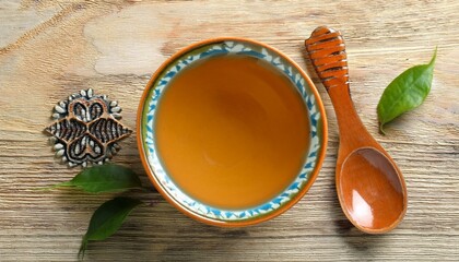
[{"label": "amber tea filling the patterned ceramic bowl", "polygon": [[158,104],[155,143],[175,183],[220,209],[262,204],[302,169],[309,120],[292,81],[239,55],[199,60],[170,81]]}]

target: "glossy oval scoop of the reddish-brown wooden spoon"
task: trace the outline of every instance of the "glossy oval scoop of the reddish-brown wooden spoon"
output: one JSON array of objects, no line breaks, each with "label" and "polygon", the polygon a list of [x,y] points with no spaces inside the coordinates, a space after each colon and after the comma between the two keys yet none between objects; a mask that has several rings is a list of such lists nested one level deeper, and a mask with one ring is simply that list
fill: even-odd
[{"label": "glossy oval scoop of the reddish-brown wooden spoon", "polygon": [[352,152],[337,174],[341,206],[354,225],[365,231],[397,226],[404,214],[401,184],[396,166],[374,147]]}]

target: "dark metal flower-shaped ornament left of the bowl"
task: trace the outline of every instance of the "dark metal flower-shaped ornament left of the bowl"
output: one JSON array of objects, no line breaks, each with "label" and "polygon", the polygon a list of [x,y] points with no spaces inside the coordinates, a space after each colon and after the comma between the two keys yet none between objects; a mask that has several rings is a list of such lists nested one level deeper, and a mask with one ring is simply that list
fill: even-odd
[{"label": "dark metal flower-shaped ornament left of the bowl", "polygon": [[59,102],[52,112],[56,120],[45,129],[56,157],[70,167],[108,162],[120,146],[118,141],[132,130],[118,120],[121,108],[106,95],[95,95],[92,88],[82,90]]}]

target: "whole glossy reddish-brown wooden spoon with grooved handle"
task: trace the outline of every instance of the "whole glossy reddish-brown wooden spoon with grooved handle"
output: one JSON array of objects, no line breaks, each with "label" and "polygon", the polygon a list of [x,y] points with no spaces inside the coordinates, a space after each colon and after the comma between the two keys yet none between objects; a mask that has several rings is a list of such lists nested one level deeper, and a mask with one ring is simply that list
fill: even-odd
[{"label": "whole glossy reddish-brown wooden spoon with grooved handle", "polygon": [[339,32],[321,26],[305,45],[337,114],[340,146],[336,184],[341,209],[362,231],[387,233],[407,212],[407,186],[396,163],[354,109],[344,40]]}]

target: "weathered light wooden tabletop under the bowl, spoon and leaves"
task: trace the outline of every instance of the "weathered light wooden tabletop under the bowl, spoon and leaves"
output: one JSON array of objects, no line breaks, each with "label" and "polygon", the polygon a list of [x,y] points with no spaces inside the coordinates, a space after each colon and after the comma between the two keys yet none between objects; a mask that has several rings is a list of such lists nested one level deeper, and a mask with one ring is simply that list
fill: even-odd
[{"label": "weathered light wooden tabletop under the bowl, spoon and leaves", "polygon": [[[374,236],[344,217],[334,191],[338,129],[333,108],[303,41],[318,25],[348,44],[351,91],[369,132],[398,163],[409,191],[404,221]],[[329,119],[318,179],[292,210],[264,224],[224,229],[195,222],[158,193],[130,193],[154,206],[93,242],[87,261],[336,261],[459,259],[458,1],[96,1],[0,0],[0,261],[74,261],[92,212],[110,194],[36,191],[72,178],[43,129],[52,106],[92,87],[123,108],[134,128],[151,74],[180,48],[240,36],[279,48],[317,84]],[[387,84],[438,57],[431,94],[417,109],[377,130]],[[309,66],[308,66],[309,64]],[[114,162],[145,184],[136,135]]]}]

